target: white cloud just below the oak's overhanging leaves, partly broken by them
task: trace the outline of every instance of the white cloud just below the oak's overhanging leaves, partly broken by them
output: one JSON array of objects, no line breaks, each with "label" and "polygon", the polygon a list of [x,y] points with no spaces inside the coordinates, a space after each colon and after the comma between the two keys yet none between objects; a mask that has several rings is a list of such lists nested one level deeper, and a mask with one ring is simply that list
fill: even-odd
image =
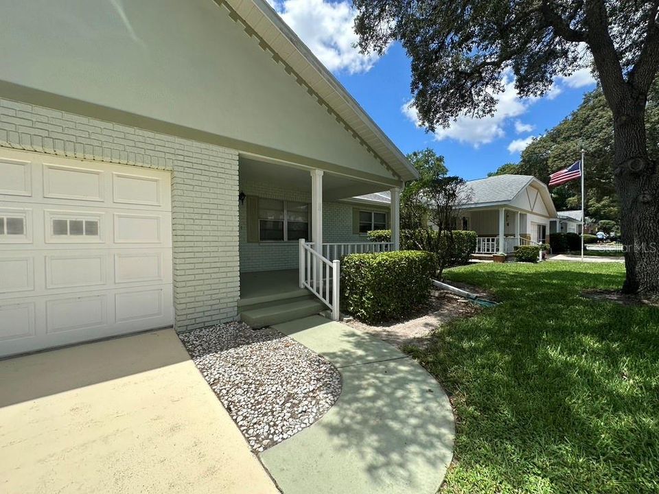
[{"label": "white cloud just below the oak's overhanging leaves, partly broken by them", "polygon": [[[504,130],[509,119],[519,117],[527,112],[529,105],[533,102],[531,98],[520,98],[515,90],[515,82],[509,74],[504,75],[504,91],[497,95],[498,102],[494,109],[494,115],[481,119],[470,115],[460,115],[448,128],[439,128],[435,132],[435,139],[454,139],[461,143],[467,143],[474,148],[495,139],[505,137]],[[419,126],[419,115],[411,102],[402,107],[403,114],[413,123]]]}]

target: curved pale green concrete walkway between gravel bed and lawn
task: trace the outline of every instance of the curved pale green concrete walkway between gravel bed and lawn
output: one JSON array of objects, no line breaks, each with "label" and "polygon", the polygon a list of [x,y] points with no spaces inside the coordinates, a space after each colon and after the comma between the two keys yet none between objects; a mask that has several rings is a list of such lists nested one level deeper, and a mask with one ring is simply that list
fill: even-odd
[{"label": "curved pale green concrete walkway between gravel bed and lawn", "polygon": [[343,377],[343,392],[322,419],[260,455],[281,491],[437,492],[454,439],[437,381],[393,346],[339,322],[312,316],[275,329],[323,355]]}]

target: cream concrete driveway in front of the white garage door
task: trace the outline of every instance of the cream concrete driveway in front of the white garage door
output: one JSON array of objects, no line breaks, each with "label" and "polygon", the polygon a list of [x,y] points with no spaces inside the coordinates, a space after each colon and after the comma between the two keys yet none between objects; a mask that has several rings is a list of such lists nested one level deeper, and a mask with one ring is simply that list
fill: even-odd
[{"label": "cream concrete driveway in front of the white garage door", "polygon": [[0,492],[278,491],[169,329],[0,361]]}]

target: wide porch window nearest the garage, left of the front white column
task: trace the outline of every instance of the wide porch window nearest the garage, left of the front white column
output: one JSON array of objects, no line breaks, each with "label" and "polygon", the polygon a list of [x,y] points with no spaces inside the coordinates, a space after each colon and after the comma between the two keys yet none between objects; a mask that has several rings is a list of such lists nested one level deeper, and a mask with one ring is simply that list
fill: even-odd
[{"label": "wide porch window nearest the garage, left of the front white column", "polygon": [[292,242],[309,238],[309,204],[259,199],[259,240]]}]

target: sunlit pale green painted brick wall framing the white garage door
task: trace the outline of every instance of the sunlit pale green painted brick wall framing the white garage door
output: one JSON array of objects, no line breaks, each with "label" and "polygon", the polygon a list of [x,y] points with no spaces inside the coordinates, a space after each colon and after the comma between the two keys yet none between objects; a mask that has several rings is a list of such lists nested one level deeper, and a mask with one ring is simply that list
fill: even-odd
[{"label": "sunlit pale green painted brick wall framing the white garage door", "polygon": [[6,99],[0,147],[172,172],[176,329],[235,318],[238,152]]}]

